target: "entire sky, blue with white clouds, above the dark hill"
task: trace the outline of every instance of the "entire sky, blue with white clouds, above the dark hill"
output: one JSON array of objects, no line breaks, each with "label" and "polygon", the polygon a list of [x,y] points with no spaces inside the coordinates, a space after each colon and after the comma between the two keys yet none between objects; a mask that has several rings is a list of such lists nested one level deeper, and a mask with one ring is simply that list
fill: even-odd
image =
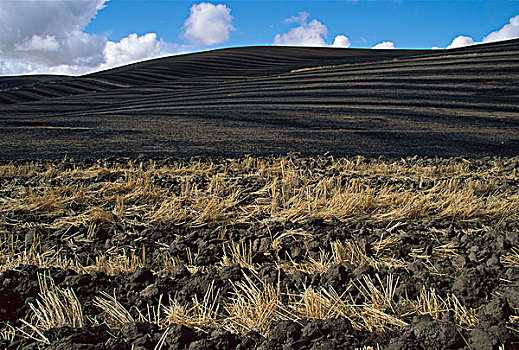
[{"label": "entire sky, blue with white clouds, above the dark hill", "polygon": [[519,0],[0,0],[0,75],[253,45],[454,48],[519,37]]}]

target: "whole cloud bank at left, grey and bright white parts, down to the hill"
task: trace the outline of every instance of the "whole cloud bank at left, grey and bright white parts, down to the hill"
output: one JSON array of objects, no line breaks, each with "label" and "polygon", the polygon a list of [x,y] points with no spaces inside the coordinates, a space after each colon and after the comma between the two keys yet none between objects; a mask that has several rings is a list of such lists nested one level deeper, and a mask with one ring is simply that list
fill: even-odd
[{"label": "whole cloud bank at left, grey and bright white parts, down to the hill", "polygon": [[84,31],[108,0],[0,1],[0,74],[84,74],[164,56],[157,34],[118,42]]}]

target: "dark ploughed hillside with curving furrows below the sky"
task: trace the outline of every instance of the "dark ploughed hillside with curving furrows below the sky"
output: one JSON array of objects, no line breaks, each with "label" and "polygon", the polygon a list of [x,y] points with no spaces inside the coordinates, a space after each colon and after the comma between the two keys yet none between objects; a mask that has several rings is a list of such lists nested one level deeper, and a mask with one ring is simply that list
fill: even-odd
[{"label": "dark ploughed hillside with curving furrows below the sky", "polygon": [[513,156],[518,51],[244,47],[19,83],[0,156]]}]

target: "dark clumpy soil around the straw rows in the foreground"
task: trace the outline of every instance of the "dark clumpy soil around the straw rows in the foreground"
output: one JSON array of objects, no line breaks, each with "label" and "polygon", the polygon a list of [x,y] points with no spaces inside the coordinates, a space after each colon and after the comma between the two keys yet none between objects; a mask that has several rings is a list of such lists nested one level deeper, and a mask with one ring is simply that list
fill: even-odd
[{"label": "dark clumpy soil around the straw rows in the foreground", "polygon": [[[168,160],[165,160],[167,162]],[[223,161],[223,160],[221,160]],[[308,159],[299,159],[308,162]],[[474,171],[485,169],[485,164],[501,162],[509,170],[519,170],[514,159],[471,160]],[[65,160],[61,166],[85,166],[90,161]],[[111,160],[118,162],[118,160]],[[126,160],[121,160],[126,162]],[[313,163],[310,160],[310,163]],[[452,160],[418,160],[418,162],[452,162]],[[515,163],[514,163],[515,162]],[[23,163],[19,161],[18,163]],[[315,164],[315,163],[314,163]],[[318,169],[318,168],[316,168]],[[515,169],[515,170],[514,170]],[[11,179],[12,180],[12,179]],[[34,179],[32,179],[34,180]],[[32,181],[20,178],[19,181]],[[201,179],[200,181],[204,181]],[[510,181],[508,189],[517,192],[519,184]],[[10,215],[11,219],[16,216]],[[44,219],[26,216],[27,221]],[[393,227],[393,228],[392,228]],[[285,237],[277,251],[271,249],[272,237],[287,229],[304,228],[311,237],[294,239]],[[12,228],[11,228],[12,229]],[[503,257],[519,245],[517,220],[481,219],[478,221],[409,221],[400,222],[340,222],[312,220],[303,224],[269,223],[237,224],[228,227],[225,237],[216,237],[215,227],[187,227],[161,225],[156,227],[100,227],[91,242],[76,242],[74,251],[63,242],[61,230],[33,232],[15,229],[21,237],[41,238],[42,250],[51,247],[62,249],[63,256],[76,256],[79,261],[88,260],[92,252],[103,251],[119,245],[146,251],[146,268],[134,273],[109,276],[103,272],[79,274],[73,270],[21,265],[0,275],[0,322],[15,327],[29,311],[29,305],[38,298],[38,274],[51,276],[60,288],[75,291],[84,313],[98,323],[88,323],[83,328],[58,328],[46,331],[52,349],[153,349],[165,333],[157,325],[143,322],[127,324],[120,333],[111,332],[103,323],[103,310],[94,305],[94,298],[101,292],[115,294],[118,301],[137,317],[137,310],[146,305],[157,305],[160,298],[174,297],[181,303],[189,303],[193,297],[202,299],[211,284],[220,291],[222,304],[233,292],[233,283],[244,281],[245,276],[255,275],[266,284],[277,284],[286,293],[297,293],[305,286],[333,288],[339,295],[349,290],[353,300],[362,300],[358,290],[348,289],[351,281],[369,276],[373,280],[387,276],[398,278],[395,300],[416,299],[422,289],[434,288],[440,296],[454,294],[462,305],[474,309],[478,323],[472,327],[460,327],[452,312],[441,319],[429,315],[407,319],[408,326],[392,328],[384,332],[369,332],[353,327],[346,318],[299,319],[277,321],[270,325],[267,337],[256,332],[232,334],[223,329],[193,329],[182,325],[170,325],[164,340],[164,349],[341,349],[363,346],[380,346],[383,349],[516,349],[519,348],[519,326],[510,316],[518,315],[519,267],[506,267]],[[76,228],[77,234],[87,228]],[[403,267],[374,268],[368,265],[341,264],[331,266],[325,273],[284,272],[277,267],[279,258],[290,257],[294,262],[317,258],[322,249],[329,249],[336,241],[353,239],[367,247],[383,234],[398,233],[398,241],[391,246],[391,257],[404,259]],[[437,232],[434,234],[433,232]],[[73,234],[74,232],[67,232]],[[239,265],[221,266],[224,246],[230,243],[250,244],[252,261],[256,271]],[[454,256],[441,256],[434,247],[456,244]],[[23,240],[20,241],[20,248]],[[179,266],[166,274],[158,274],[159,253],[167,251],[183,261],[188,261],[186,251],[192,252],[192,263],[199,267],[190,272]],[[414,255],[428,255],[420,258]],[[436,255],[435,255],[436,254]],[[41,344],[30,339],[17,338],[1,344],[7,349],[34,349]]]}]

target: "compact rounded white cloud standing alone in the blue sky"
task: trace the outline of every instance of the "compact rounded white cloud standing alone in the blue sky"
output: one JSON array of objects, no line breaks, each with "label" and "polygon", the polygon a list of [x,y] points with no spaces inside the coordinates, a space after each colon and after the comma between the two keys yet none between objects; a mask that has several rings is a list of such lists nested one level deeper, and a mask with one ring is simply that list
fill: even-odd
[{"label": "compact rounded white cloud standing alone in the blue sky", "polygon": [[231,9],[226,5],[207,2],[191,6],[191,15],[184,22],[183,38],[195,45],[211,46],[229,40],[232,25]]}]

